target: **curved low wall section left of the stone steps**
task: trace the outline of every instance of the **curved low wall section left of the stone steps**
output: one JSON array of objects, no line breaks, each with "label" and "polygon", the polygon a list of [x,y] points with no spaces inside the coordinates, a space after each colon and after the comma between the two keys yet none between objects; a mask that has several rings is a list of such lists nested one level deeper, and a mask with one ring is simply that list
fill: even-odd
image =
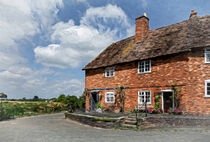
[{"label": "curved low wall section left of the stone steps", "polygon": [[69,118],[71,120],[75,120],[83,124],[101,128],[118,128],[124,121],[124,117],[108,118],[68,112],[65,113],[65,118]]}]

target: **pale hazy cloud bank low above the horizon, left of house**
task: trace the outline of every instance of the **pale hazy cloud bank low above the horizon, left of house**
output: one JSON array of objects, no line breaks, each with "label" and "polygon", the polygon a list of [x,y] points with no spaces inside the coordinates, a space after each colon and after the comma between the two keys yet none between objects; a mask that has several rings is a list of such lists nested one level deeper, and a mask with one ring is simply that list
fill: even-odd
[{"label": "pale hazy cloud bank low above the horizon, left of house", "polygon": [[[13,66],[0,71],[0,90],[9,98],[56,97],[59,94],[82,95],[84,83],[79,79],[53,79],[58,72],[44,68],[34,70],[25,66]],[[47,76],[50,76],[49,79]]]}]

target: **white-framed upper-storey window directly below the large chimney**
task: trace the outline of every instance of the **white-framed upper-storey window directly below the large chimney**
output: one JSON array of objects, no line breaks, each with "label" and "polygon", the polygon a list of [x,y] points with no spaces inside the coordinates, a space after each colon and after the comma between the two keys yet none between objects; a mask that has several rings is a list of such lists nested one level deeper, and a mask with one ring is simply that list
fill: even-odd
[{"label": "white-framed upper-storey window directly below the large chimney", "polygon": [[151,72],[151,60],[140,61],[138,63],[138,73]]}]

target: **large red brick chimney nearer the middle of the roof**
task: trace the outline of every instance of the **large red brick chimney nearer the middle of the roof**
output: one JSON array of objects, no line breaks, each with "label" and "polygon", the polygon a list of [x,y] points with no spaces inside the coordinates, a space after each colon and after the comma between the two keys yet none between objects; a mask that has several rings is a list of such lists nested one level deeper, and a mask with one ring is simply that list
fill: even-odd
[{"label": "large red brick chimney nearer the middle of the roof", "polygon": [[149,18],[147,18],[146,13],[144,13],[143,16],[136,18],[135,41],[141,42],[147,35],[148,31],[149,31]]}]

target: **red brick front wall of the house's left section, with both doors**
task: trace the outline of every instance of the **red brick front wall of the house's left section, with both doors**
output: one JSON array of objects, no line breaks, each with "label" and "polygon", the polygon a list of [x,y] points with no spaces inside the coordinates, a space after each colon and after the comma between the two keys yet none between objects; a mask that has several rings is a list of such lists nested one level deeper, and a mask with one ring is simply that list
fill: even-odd
[{"label": "red brick front wall of the house's left section, with both doors", "polygon": [[[151,73],[138,74],[138,62],[131,62],[115,66],[115,77],[106,78],[104,76],[104,68],[87,70],[85,79],[85,88],[105,88],[118,87],[123,85],[130,89],[125,89],[125,111],[131,111],[138,105],[138,91],[150,90],[152,95],[152,105],[155,105],[154,94],[164,89],[171,89],[171,84],[176,83],[182,88],[183,101],[186,103],[187,93],[186,85],[189,76],[189,53],[182,53],[173,56],[165,56],[152,59]],[[105,92],[111,90],[101,90],[101,104],[109,107],[110,104],[105,103]],[[116,90],[115,90],[116,91]],[[87,100],[87,107],[89,101]],[[187,108],[182,105],[182,109]]]}]

